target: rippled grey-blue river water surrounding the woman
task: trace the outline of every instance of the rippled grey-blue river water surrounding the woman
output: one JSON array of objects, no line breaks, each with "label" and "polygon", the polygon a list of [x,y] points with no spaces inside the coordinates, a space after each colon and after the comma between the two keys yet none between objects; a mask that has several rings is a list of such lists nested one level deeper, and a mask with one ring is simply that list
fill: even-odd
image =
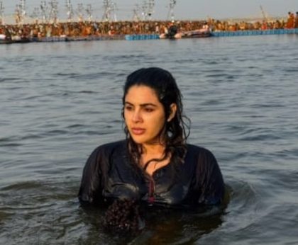
[{"label": "rippled grey-blue river water surrounding the woman", "polygon": [[[298,244],[298,35],[0,45],[0,244]],[[126,75],[177,79],[189,142],[219,161],[221,215],[163,213],[132,237],[77,191],[99,144],[122,139]],[[148,210],[150,212],[150,210]]]}]

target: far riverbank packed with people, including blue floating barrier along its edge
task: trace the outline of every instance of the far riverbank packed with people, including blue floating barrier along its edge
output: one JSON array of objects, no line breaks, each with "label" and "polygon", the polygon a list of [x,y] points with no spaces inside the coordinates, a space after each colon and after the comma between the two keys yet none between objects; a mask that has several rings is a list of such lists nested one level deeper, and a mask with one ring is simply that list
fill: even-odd
[{"label": "far riverbank packed with people, including blue floating barrier along its edge", "polygon": [[[272,35],[297,33],[298,22],[273,21],[81,21],[0,25],[0,43],[62,42],[82,40],[148,40],[171,32],[186,33],[209,28],[211,36]],[[5,41],[4,41],[5,40]]]}]

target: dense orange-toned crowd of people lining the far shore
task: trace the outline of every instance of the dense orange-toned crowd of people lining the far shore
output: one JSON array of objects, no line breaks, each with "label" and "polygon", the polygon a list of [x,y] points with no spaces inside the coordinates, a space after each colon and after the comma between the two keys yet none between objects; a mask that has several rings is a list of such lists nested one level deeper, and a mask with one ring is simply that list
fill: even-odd
[{"label": "dense orange-toned crowd of people lining the far shore", "polygon": [[65,23],[28,23],[18,25],[1,25],[2,37],[18,36],[21,38],[45,38],[53,36],[87,37],[90,35],[133,35],[133,34],[162,34],[167,33],[171,25],[176,25],[180,32],[198,30],[208,24],[209,29],[216,31],[237,30],[267,30],[298,28],[298,12],[296,15],[288,13],[287,18],[281,20],[263,21],[79,21]]}]

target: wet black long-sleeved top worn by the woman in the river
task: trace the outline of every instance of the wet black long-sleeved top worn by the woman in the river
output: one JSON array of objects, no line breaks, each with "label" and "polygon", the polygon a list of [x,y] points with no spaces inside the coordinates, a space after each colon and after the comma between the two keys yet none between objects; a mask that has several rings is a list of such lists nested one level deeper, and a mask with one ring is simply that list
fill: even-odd
[{"label": "wet black long-sleeved top worn by the woman in the river", "polygon": [[197,206],[221,203],[224,183],[219,165],[209,150],[187,144],[184,163],[172,175],[171,163],[145,178],[131,164],[126,140],[97,147],[84,166],[79,200],[104,203],[114,198],[143,200],[156,205]]}]

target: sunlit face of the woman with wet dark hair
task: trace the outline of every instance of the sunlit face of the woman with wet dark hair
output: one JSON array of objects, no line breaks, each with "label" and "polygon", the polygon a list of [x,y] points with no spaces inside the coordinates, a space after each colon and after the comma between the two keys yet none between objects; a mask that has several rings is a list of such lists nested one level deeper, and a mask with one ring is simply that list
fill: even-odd
[{"label": "sunlit face of the woman with wet dark hair", "polygon": [[155,91],[148,86],[131,86],[124,101],[124,120],[137,144],[160,144],[165,111]]}]

